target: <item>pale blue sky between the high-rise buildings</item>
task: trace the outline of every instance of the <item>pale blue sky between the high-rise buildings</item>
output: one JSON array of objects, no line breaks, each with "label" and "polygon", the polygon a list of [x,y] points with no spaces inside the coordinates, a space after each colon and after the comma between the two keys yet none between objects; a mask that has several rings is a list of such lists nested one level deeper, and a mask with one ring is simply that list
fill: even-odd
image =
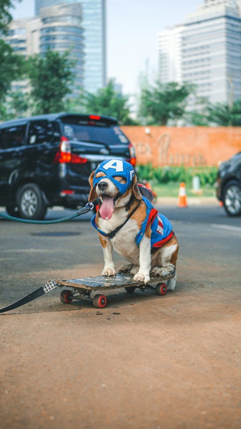
[{"label": "pale blue sky between the high-rise buildings", "polygon": [[[157,33],[184,22],[203,0],[106,0],[107,77],[135,94],[141,72],[157,73]],[[34,16],[34,0],[14,3],[14,19]]]}]

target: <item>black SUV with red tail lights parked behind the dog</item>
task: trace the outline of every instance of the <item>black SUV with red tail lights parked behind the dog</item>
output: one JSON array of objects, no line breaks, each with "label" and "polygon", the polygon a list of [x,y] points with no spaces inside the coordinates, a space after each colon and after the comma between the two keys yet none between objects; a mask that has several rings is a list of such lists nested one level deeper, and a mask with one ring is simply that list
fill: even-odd
[{"label": "black SUV with red tail lights parked behind the dog", "polygon": [[87,202],[88,178],[105,159],[136,163],[114,118],[68,113],[0,124],[0,205],[10,215],[43,219],[47,208]]}]

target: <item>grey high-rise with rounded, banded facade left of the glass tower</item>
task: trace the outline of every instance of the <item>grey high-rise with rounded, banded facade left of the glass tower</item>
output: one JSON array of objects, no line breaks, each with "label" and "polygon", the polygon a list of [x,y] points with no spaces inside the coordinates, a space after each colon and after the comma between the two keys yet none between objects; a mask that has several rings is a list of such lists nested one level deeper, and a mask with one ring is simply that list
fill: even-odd
[{"label": "grey high-rise with rounded, banded facade left of the glass tower", "polygon": [[[83,29],[81,5],[52,6],[41,9],[40,16],[12,21],[6,41],[21,55],[45,53],[47,49],[63,53],[69,50],[74,60],[72,96],[83,87]],[[27,90],[27,81],[14,83],[14,89]]]}]

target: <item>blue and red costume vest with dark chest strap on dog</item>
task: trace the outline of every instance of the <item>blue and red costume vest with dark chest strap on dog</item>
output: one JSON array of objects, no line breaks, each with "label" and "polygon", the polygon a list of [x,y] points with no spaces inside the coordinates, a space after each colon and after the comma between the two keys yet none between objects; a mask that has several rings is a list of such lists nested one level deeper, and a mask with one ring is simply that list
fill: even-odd
[{"label": "blue and red costume vest with dark chest strap on dog", "polygon": [[[148,225],[151,223],[151,230],[152,230],[151,247],[153,247],[153,248],[161,247],[163,244],[167,243],[173,236],[172,224],[166,218],[166,216],[158,213],[158,210],[154,209],[153,205],[150,203],[150,201],[148,201],[148,199],[146,197],[143,196],[142,199],[147,206],[147,216],[146,216],[146,219],[142,223],[140,231],[136,235],[137,245],[139,247],[140,241],[143,238],[143,236],[144,236],[144,234],[148,228]],[[131,213],[131,216],[133,215],[133,213]],[[129,215],[127,220],[129,220],[131,218],[131,216]],[[105,237],[109,237],[110,239],[113,238],[114,235],[127,222],[127,221],[124,222],[124,224],[120,225],[120,227],[117,227],[114,231],[111,231],[110,233],[107,234],[107,233],[101,231],[101,229],[99,229],[97,227],[97,225],[95,223],[95,217],[96,217],[96,214],[91,219],[91,224],[93,225],[93,227],[96,228],[97,231],[101,235],[104,235]]]}]

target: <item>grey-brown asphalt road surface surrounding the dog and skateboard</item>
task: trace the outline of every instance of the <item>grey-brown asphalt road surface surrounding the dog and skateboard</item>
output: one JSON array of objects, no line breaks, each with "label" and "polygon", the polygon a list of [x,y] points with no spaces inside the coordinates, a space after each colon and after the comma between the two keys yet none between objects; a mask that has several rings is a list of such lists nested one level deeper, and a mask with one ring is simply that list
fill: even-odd
[{"label": "grey-brown asphalt road surface surrounding the dog and skateboard", "polygon": [[[107,292],[98,310],[56,290],[0,315],[1,429],[240,427],[241,217],[218,205],[161,212],[180,242],[174,292]],[[0,306],[48,279],[99,275],[90,217],[0,220]]]}]

